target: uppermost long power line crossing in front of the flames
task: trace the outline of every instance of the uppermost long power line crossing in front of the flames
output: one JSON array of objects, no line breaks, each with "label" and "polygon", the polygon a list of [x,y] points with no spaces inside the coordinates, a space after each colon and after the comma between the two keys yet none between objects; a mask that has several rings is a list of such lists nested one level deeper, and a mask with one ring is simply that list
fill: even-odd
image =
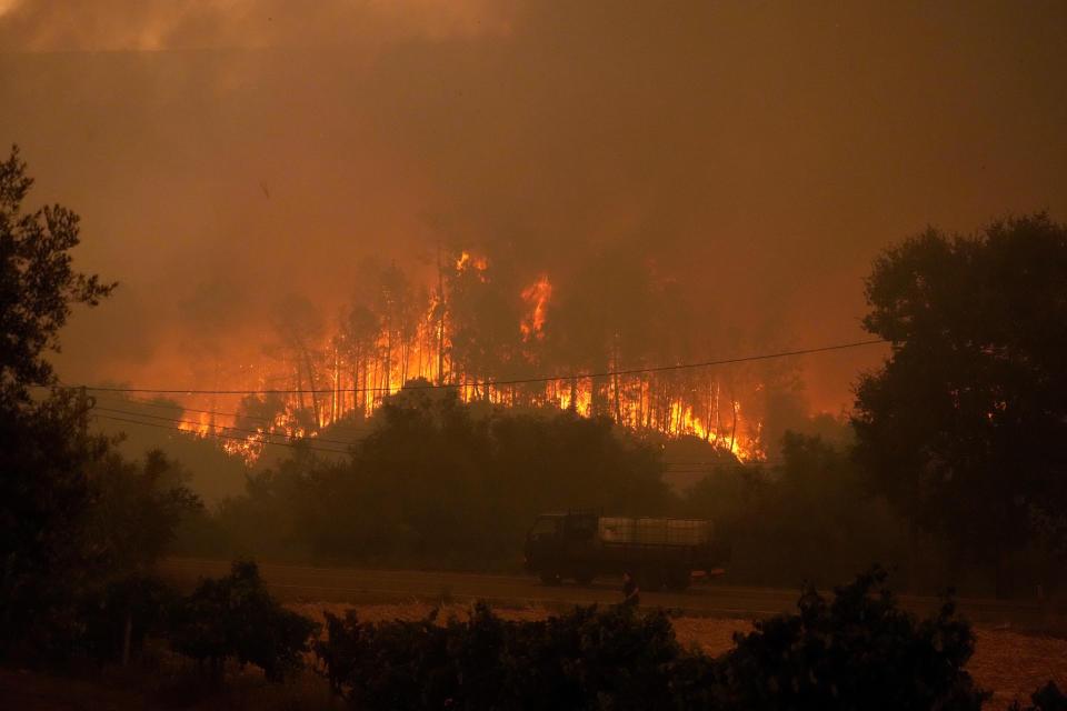
[{"label": "uppermost long power line crossing in front of the flames", "polygon": [[[822,346],[820,348],[806,348],[794,351],[780,351],[777,353],[762,353],[759,356],[745,356],[741,358],[725,358],[720,360],[710,360],[700,363],[680,363],[677,365],[655,365],[649,368],[629,368],[625,370],[606,370],[602,372],[590,372],[590,373],[571,373],[568,375],[538,375],[536,378],[516,378],[511,380],[485,380],[481,382],[461,382],[461,383],[442,383],[442,384],[418,384],[418,385],[405,385],[403,390],[441,390],[441,389],[457,389],[457,388],[467,388],[471,385],[482,385],[482,387],[499,387],[499,385],[518,385],[525,383],[540,383],[540,382],[556,382],[565,380],[588,380],[591,378],[611,378],[615,375],[636,375],[639,373],[658,373],[658,372],[670,372],[678,370],[691,370],[695,368],[711,368],[715,365],[731,365],[736,363],[747,363],[761,360],[774,360],[777,358],[790,358],[795,356],[808,356],[811,353],[826,353],[829,351],[840,351],[850,348],[860,348],[864,346],[875,346],[880,343],[889,343],[890,341],[884,339],[872,339],[867,341],[854,341],[851,343],[838,343],[835,346]],[[392,392],[391,387],[386,385],[373,385],[370,388],[311,388],[306,390],[299,389],[267,389],[267,390],[197,390],[193,388],[188,389],[173,389],[173,388],[93,388],[86,385],[86,390],[92,392],[154,392],[159,394],[212,394],[212,395],[246,395],[246,394],[292,394],[299,392],[308,393],[330,393],[330,392]]]}]

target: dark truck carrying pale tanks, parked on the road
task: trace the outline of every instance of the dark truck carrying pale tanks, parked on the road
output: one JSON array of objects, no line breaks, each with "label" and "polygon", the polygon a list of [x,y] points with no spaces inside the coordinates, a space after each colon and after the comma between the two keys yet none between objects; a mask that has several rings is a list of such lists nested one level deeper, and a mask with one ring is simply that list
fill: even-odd
[{"label": "dark truck carrying pale tanks, parked on the road", "polygon": [[629,571],[645,590],[685,590],[724,572],[730,547],[707,519],[542,513],[526,534],[523,565],[546,584]]}]

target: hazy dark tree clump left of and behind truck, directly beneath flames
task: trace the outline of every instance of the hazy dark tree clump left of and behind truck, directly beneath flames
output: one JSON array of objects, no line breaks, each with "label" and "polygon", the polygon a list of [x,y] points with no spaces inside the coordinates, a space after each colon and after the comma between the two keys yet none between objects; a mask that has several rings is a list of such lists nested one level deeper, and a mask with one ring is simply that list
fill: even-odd
[{"label": "hazy dark tree clump left of and behind truck, directly beneath flames", "polygon": [[651,514],[671,504],[658,452],[619,437],[606,419],[519,413],[468,405],[448,391],[408,390],[371,422],[375,430],[348,461],[298,451],[251,477],[247,494],[223,502],[218,517],[231,550],[483,565],[515,560],[546,510],[602,505]]}]

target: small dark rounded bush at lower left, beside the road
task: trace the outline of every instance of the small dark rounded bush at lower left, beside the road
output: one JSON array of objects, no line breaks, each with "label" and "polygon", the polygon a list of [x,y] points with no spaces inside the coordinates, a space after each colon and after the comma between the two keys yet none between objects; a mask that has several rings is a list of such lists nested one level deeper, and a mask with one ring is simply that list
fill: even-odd
[{"label": "small dark rounded bush at lower left, beside the road", "polygon": [[281,681],[302,667],[317,627],[267,592],[256,563],[237,561],[229,575],[202,581],[182,602],[171,645],[207,665],[217,680],[226,660],[236,659]]}]

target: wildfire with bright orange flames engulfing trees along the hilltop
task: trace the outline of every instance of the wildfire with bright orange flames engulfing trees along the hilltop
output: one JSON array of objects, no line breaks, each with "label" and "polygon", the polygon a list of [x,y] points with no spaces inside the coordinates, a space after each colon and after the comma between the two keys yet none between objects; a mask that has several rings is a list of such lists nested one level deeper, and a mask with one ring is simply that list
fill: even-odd
[{"label": "wildfire with bright orange flames engulfing trees along the hilltop", "polygon": [[761,389],[757,374],[628,369],[618,331],[592,353],[598,367],[586,357],[587,365],[575,368],[567,352],[588,334],[556,323],[568,304],[556,299],[549,274],[511,287],[496,280],[485,257],[461,251],[448,263],[455,268],[421,298],[395,267],[382,270],[380,296],[352,306],[332,329],[312,328],[310,304],[290,306],[276,324],[273,362],[243,373],[265,394],[243,398],[227,422],[200,414],[181,429],[220,435],[227,451],[251,461],[267,442],[367,418],[405,387],[453,388],[465,402],[571,410],[639,432],[698,438],[741,460],[762,458],[760,420],[741,417],[739,402]]}]

